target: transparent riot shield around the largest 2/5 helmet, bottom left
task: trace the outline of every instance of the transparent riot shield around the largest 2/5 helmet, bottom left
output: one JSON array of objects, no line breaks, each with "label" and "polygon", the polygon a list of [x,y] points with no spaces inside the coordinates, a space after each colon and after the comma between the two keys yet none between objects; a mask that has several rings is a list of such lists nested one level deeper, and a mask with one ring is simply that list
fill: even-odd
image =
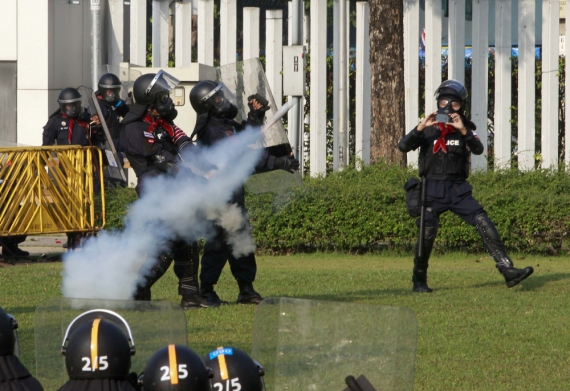
[{"label": "transparent riot shield around the largest 2/5 helmet, bottom left", "polygon": [[159,301],[120,301],[56,298],[42,302],[34,315],[36,377],[46,390],[57,390],[67,380],[61,347],[69,324],[94,309],[122,316],[132,332],[136,354],[131,371],[140,374],[146,361],[168,344],[187,345],[186,315],[179,305]]}]

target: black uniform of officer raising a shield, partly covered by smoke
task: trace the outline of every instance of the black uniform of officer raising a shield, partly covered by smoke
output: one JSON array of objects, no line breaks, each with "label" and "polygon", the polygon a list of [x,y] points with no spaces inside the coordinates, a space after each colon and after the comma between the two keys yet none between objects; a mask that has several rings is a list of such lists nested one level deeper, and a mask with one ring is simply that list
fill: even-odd
[{"label": "black uniform of officer raising a shield, partly covered by smoke", "polygon": [[[219,140],[242,131],[247,125],[255,126],[258,124],[247,121],[240,124],[230,119],[201,114],[197,121],[198,131],[196,134],[198,135],[198,145],[209,147]],[[257,162],[255,170],[256,172],[271,171],[274,169],[274,164],[275,156],[269,155],[267,151],[264,151]],[[247,214],[243,186],[234,191],[231,202],[238,204],[244,215]],[[202,256],[202,270],[200,272],[200,282],[203,288],[217,284],[227,261],[230,263],[232,275],[236,278],[238,284],[246,283],[251,285],[255,280],[257,273],[255,254],[250,253],[239,258],[234,257],[225,235],[224,230],[218,227],[216,236],[206,240]]]}]

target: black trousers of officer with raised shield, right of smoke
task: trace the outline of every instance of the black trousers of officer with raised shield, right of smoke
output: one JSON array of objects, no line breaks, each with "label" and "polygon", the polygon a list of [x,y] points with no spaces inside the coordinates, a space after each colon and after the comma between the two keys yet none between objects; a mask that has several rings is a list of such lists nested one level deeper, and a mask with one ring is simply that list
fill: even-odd
[{"label": "black trousers of officer with raised shield, right of smoke", "polygon": [[216,227],[216,230],[216,236],[208,239],[204,246],[200,272],[202,286],[217,284],[226,262],[230,263],[230,270],[236,280],[249,283],[255,281],[257,273],[255,254],[249,253],[239,258],[234,257],[232,248],[225,239],[224,230],[220,227]]}]

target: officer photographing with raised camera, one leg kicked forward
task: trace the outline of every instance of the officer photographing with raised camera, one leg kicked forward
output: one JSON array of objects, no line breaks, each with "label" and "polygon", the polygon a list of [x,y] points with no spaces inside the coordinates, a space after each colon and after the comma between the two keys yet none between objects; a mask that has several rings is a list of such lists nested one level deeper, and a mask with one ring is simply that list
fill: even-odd
[{"label": "officer photographing with raised camera, one leg kicked forward", "polygon": [[[452,211],[467,224],[474,226],[496,267],[511,288],[533,273],[528,266],[517,269],[509,258],[493,221],[471,194],[467,182],[470,154],[483,153],[473,122],[465,117],[467,89],[456,80],[443,82],[435,92],[437,112],[429,114],[398,144],[402,152],[420,148],[419,173],[427,181],[424,245],[419,256],[419,241],[414,258],[413,291],[431,292],[427,285],[428,260],[437,235],[439,215]],[[436,116],[444,115],[447,117]],[[416,221],[420,227],[419,219]]]}]

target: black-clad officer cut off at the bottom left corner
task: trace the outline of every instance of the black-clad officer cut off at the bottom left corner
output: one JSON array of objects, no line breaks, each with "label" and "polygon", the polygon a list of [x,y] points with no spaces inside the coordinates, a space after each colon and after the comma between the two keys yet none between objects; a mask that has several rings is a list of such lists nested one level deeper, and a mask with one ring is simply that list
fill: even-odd
[{"label": "black-clad officer cut off at the bottom left corner", "polygon": [[43,391],[40,382],[17,357],[19,354],[17,328],[16,318],[0,307],[0,390]]}]

